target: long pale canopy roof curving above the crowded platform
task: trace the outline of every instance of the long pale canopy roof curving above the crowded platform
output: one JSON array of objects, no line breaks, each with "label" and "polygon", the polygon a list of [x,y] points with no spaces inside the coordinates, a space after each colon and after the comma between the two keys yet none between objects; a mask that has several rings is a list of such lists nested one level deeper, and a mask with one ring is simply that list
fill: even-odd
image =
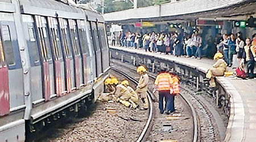
[{"label": "long pale canopy roof curving above the crowded platform", "polygon": [[106,22],[115,24],[168,20],[246,20],[256,16],[256,0],[185,0],[158,6],[129,9],[104,14]]}]

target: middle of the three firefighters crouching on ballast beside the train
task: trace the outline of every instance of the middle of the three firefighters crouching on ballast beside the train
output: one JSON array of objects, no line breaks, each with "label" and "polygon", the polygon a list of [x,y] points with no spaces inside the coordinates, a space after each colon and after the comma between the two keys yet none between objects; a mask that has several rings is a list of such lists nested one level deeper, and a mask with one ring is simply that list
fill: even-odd
[{"label": "middle of the three firefighters crouching on ballast beside the train", "polygon": [[131,98],[130,91],[122,84],[118,84],[115,88],[115,98],[117,102],[122,103],[126,107],[133,107],[129,102],[129,99]]}]

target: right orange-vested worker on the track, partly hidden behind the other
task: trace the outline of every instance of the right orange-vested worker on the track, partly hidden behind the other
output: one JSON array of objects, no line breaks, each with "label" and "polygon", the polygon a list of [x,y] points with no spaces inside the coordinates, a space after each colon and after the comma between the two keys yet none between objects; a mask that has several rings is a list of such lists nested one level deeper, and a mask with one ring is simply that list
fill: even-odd
[{"label": "right orange-vested worker on the track, partly hidden behind the other", "polygon": [[180,81],[179,81],[179,77],[176,76],[175,72],[171,72],[170,74],[172,77],[170,109],[171,109],[171,112],[174,112],[175,111],[174,100],[175,100],[175,96],[180,93]]}]

